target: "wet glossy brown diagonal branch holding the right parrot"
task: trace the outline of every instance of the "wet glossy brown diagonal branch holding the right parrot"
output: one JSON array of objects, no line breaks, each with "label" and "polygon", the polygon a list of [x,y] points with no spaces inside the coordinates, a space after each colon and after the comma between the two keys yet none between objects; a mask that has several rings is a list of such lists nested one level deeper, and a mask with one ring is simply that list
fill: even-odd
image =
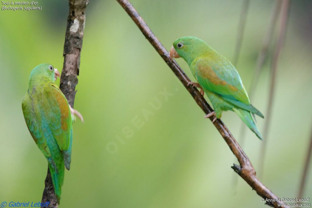
[{"label": "wet glossy brown diagonal branch holding the right parrot", "polygon": [[[117,2],[124,8],[124,10],[128,13],[134,23],[139,27],[142,31],[143,35],[146,39],[151,43],[151,45],[155,48],[158,54],[163,58],[163,60],[167,63],[167,65],[171,68],[173,73],[178,77],[178,79],[182,82],[184,87],[188,90],[188,92],[192,95],[193,99],[199,105],[199,107],[205,112],[205,114],[211,113],[212,109],[207,104],[206,100],[202,97],[199,91],[191,86],[188,87],[188,82],[190,79],[185,75],[180,66],[174,61],[170,59],[168,51],[164,48],[164,46],[160,43],[154,33],[150,30],[147,24],[144,22],[139,13],[134,9],[132,4],[128,0],[117,0]],[[213,117],[214,118],[214,117]],[[213,119],[210,117],[210,120]],[[267,202],[266,204],[278,207],[278,204],[282,204],[282,201],[277,201],[279,197],[277,197],[271,190],[269,190],[262,182],[256,177],[256,171],[251,164],[251,161],[245,154],[245,152],[241,149],[239,144],[236,142],[235,138],[232,136],[231,132],[227,129],[224,123],[217,119],[213,125],[217,128],[219,133],[222,135],[223,139],[233,152],[233,154],[238,159],[240,165],[233,165],[232,168],[234,171],[239,174],[251,187],[254,189],[258,195],[262,198],[272,200],[272,202]],[[274,201],[273,201],[274,200]],[[285,206],[280,206],[285,207]]]}]

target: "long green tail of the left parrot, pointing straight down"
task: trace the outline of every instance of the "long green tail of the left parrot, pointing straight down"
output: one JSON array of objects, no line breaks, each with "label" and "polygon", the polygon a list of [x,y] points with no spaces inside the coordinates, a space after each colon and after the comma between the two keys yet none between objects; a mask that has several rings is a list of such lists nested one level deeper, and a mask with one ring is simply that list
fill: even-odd
[{"label": "long green tail of the left parrot, pointing straight down", "polygon": [[[49,161],[49,159],[48,159]],[[54,163],[54,162],[53,162]],[[57,169],[55,169],[55,164],[54,166],[49,162],[49,170],[54,186],[54,192],[57,197],[58,203],[60,203],[61,199],[61,187],[64,182],[64,162],[61,162],[61,164],[58,164]]]}]

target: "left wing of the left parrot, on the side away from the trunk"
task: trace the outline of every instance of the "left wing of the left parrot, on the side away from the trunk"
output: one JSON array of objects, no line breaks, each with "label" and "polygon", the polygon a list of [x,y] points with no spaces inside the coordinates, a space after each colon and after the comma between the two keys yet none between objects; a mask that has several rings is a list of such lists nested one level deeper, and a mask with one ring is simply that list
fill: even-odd
[{"label": "left wing of the left parrot, on the side away from the trunk", "polygon": [[[40,128],[40,121],[37,119],[40,118],[40,113],[38,105],[33,103],[33,100],[30,98],[28,92],[24,96],[22,100],[22,110],[24,114],[24,118],[27,124],[27,127],[29,129],[30,134],[32,135],[32,138],[35,140],[36,144],[38,145],[41,152],[44,154],[44,156],[51,157],[51,152],[49,150],[49,147],[46,143],[46,138],[44,136],[44,133],[42,132],[42,129]],[[37,114],[36,114],[37,112]]]}]

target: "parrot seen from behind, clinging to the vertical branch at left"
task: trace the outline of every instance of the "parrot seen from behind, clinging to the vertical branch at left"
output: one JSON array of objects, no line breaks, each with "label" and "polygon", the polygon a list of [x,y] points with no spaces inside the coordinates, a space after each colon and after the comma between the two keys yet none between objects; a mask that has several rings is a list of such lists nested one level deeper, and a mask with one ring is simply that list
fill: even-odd
[{"label": "parrot seen from behind, clinging to the vertical branch at left", "polygon": [[29,76],[28,91],[22,100],[22,110],[32,138],[48,160],[54,191],[58,201],[64,181],[64,166],[71,164],[73,142],[72,122],[81,114],[72,109],[66,97],[55,85],[60,73],[50,64],[36,66]]}]

